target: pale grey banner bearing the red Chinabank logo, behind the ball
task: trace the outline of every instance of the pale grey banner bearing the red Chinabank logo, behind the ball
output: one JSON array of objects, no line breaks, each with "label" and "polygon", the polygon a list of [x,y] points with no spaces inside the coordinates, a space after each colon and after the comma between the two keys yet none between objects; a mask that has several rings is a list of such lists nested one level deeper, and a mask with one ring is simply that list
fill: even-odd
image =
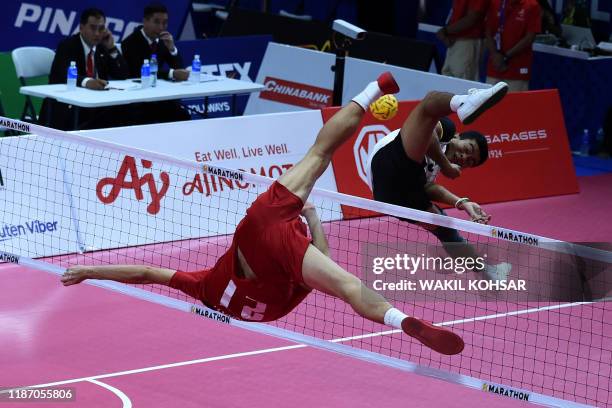
[{"label": "pale grey banner bearing the red Chinabank logo, behind the ball", "polygon": [[[331,106],[334,88],[331,68],[335,58],[330,53],[269,43],[256,81],[266,88],[249,97],[245,115]],[[490,86],[349,57],[344,72],[343,103],[348,103],[384,71],[393,73],[400,85],[397,94],[400,100],[420,100],[429,91],[466,93],[470,88]]]}]

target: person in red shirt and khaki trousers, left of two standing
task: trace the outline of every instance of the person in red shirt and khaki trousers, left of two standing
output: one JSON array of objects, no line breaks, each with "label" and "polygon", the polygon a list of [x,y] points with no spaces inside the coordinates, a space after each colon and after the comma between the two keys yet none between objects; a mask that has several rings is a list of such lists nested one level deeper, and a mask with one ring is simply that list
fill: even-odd
[{"label": "person in red shirt and khaki trousers, left of two standing", "polygon": [[484,17],[490,0],[454,0],[449,24],[438,38],[448,47],[442,74],[479,80]]}]

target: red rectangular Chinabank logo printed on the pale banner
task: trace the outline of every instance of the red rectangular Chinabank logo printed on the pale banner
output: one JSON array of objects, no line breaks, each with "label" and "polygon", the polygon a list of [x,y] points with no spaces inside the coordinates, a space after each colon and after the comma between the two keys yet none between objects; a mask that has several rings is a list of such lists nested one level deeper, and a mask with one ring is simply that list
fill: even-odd
[{"label": "red rectangular Chinabank logo printed on the pale banner", "polygon": [[272,77],[266,77],[264,87],[259,94],[261,99],[310,109],[323,109],[332,105],[333,92],[329,89]]}]

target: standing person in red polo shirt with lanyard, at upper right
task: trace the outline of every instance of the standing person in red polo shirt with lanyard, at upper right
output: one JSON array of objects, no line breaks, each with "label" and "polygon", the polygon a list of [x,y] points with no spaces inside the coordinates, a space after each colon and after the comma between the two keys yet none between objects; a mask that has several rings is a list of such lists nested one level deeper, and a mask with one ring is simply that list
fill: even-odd
[{"label": "standing person in red polo shirt with lanyard, at upper right", "polygon": [[531,47],[540,29],[537,0],[491,0],[485,40],[489,51],[487,83],[503,80],[511,92],[529,89]]}]

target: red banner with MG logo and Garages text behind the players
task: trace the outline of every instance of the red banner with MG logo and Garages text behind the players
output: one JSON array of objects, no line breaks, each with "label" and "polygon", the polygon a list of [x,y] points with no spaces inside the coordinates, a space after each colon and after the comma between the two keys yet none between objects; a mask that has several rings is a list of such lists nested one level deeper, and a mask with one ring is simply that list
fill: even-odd
[{"label": "red banner with MG logo and Garages text behind the players", "polygon": [[[380,138],[401,127],[418,102],[401,102],[392,120],[380,122],[366,115],[363,124],[333,157],[338,191],[372,198],[365,176],[368,152]],[[327,122],[338,108],[322,111]],[[511,93],[470,126],[456,115],[457,131],[478,130],[489,142],[489,160],[464,169],[461,177],[437,182],[460,197],[494,203],[578,192],[571,152],[556,90]],[[398,174],[397,182],[402,182]],[[349,210],[344,209],[350,217]]]}]

